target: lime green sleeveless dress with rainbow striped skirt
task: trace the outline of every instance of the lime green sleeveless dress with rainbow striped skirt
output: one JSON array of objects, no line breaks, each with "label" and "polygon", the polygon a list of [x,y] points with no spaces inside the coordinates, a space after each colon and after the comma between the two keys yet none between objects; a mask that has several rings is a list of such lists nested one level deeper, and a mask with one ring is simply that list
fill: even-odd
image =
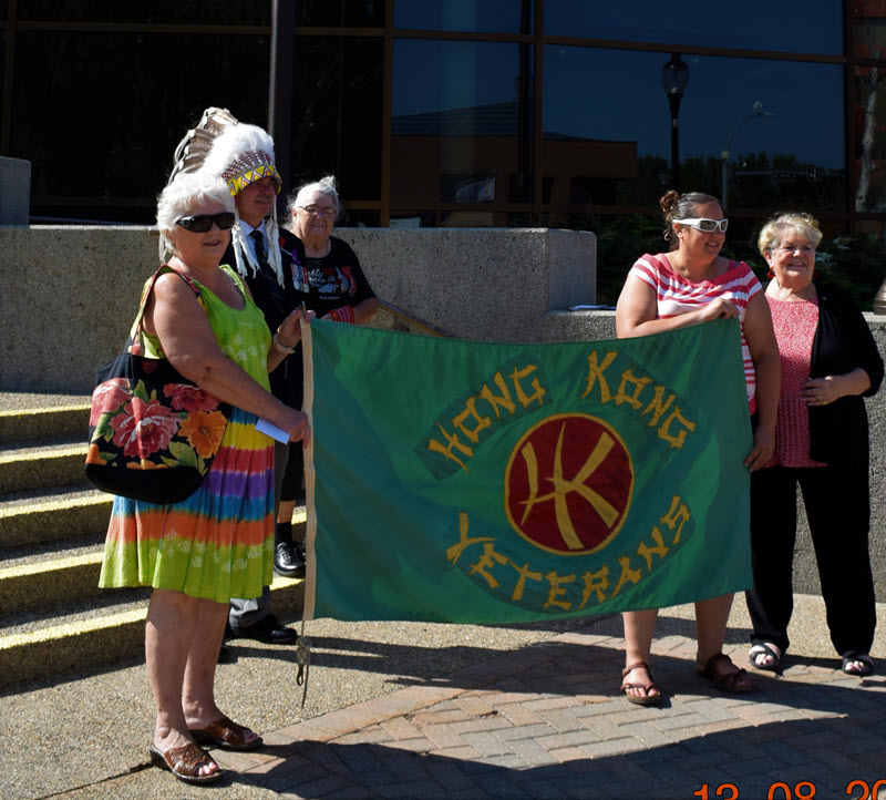
[{"label": "lime green sleeveless dress with rainbow striped skirt", "polygon": [[[239,311],[197,284],[200,305],[218,346],[268,389],[270,331],[265,317],[237,284],[246,304]],[[196,283],[196,281],[195,281]],[[159,342],[145,336],[145,355]],[[258,597],[270,585],[274,564],[274,442],[257,417],[231,409],[222,448],[200,488],[187,500],[156,505],[115,498],[99,585],[153,586],[227,604]]]}]

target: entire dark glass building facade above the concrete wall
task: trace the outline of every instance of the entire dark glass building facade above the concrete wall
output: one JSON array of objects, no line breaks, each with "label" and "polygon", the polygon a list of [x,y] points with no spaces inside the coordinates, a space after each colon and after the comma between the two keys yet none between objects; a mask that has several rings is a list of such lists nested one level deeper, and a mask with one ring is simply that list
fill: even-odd
[{"label": "entire dark glass building facade above the concrete wall", "polygon": [[274,94],[287,188],[334,174],[346,224],[602,238],[678,182],[727,198],[739,255],[786,207],[882,236],[884,31],[886,0],[0,2],[0,154],[35,218],[147,223],[202,111],[268,126]]}]

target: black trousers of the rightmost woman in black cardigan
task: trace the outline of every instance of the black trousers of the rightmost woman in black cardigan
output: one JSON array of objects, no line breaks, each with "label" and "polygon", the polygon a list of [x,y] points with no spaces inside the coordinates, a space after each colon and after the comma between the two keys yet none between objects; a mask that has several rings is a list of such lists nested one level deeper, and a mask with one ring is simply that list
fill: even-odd
[{"label": "black trousers of the rightmost woman in black cardigan", "polygon": [[818,563],[831,642],[841,655],[846,650],[869,653],[876,604],[867,548],[870,499],[866,464],[864,468],[771,466],[751,475],[754,588],[745,596],[754,643],[770,642],[782,653],[790,644],[799,483]]}]

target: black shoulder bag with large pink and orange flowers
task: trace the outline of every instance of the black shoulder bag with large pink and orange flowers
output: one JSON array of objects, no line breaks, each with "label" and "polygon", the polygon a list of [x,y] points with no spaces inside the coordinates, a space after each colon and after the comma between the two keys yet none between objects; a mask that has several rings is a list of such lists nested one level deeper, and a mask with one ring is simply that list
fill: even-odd
[{"label": "black shoulder bag with large pink and orange flowers", "polygon": [[[95,370],[86,479],[96,489],[148,503],[178,503],[203,482],[225,434],[230,406],[183,378],[166,359],[144,358],[142,293],[123,352]],[[176,273],[202,302],[199,289]]]}]

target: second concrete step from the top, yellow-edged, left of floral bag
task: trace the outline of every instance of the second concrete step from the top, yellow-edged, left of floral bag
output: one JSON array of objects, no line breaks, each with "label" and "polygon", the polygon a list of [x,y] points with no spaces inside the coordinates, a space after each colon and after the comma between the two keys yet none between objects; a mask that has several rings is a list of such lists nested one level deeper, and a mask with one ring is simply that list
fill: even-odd
[{"label": "second concrete step from the top, yellow-edged, left of floral bag", "polygon": [[0,445],[0,494],[83,483],[86,438]]}]

